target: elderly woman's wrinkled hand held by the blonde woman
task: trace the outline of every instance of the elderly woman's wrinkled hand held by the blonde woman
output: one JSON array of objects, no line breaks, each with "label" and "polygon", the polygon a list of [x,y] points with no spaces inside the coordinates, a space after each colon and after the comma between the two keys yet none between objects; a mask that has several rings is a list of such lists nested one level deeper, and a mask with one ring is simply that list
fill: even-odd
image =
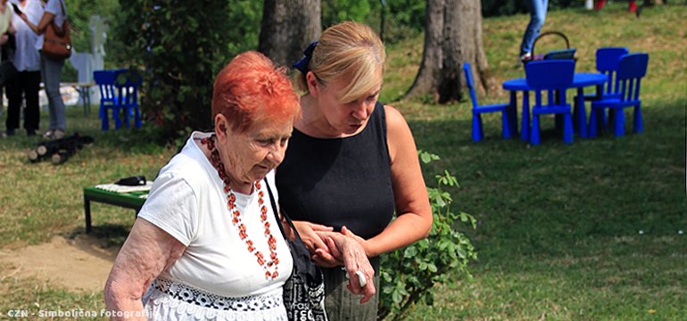
[{"label": "elderly woman's wrinkled hand held by the blonde woman", "polygon": [[[377,290],[373,282],[375,269],[370,265],[365,249],[354,238],[340,233],[320,232],[318,234],[327,241],[331,255],[343,262],[349,276],[349,284],[346,288],[353,294],[363,295],[360,304],[367,302]],[[318,254],[324,253],[318,252]]]}]

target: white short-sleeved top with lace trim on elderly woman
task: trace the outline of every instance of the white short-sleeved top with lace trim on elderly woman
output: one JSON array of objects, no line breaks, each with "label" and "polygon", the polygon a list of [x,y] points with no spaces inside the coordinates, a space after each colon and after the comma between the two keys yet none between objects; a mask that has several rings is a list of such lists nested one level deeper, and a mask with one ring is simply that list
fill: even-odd
[{"label": "white short-sleeved top with lace trim on elderly woman", "polygon": [[[145,309],[153,319],[161,320],[286,320],[282,286],[291,275],[293,259],[279,232],[267,186],[262,184],[261,190],[279,259],[279,276],[269,280],[231,221],[217,170],[195,144],[194,138],[206,136],[210,133],[194,132],[182,151],[161,169],[138,214],[186,245],[181,258],[151,284],[144,297]],[[274,171],[267,179],[277,202]],[[257,194],[235,192],[235,203],[248,238],[258,251],[269,255]]]}]

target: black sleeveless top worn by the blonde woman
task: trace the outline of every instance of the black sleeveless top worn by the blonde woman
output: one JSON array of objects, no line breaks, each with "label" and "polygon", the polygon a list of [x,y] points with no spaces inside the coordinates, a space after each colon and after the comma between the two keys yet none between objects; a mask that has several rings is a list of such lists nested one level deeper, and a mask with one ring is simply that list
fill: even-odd
[{"label": "black sleeveless top worn by the blonde woman", "polygon": [[294,220],[342,226],[368,239],[381,233],[395,210],[386,114],[377,102],[355,136],[315,138],[294,128],[277,168],[279,205]]}]

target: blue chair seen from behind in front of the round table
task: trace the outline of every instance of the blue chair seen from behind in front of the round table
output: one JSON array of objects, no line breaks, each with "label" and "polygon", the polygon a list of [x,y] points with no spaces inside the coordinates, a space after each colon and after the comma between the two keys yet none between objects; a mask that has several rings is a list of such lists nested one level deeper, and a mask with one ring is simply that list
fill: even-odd
[{"label": "blue chair seen from behind in front of the round table", "polygon": [[[536,96],[536,102],[532,107],[530,142],[534,145],[541,143],[540,115],[555,114],[563,116],[563,141],[566,144],[572,143],[575,134],[570,104],[566,103],[566,89],[573,83],[575,77],[575,61],[528,62],[525,65],[525,72],[527,86],[534,88]],[[542,103],[542,92],[547,92],[547,104]]]}]

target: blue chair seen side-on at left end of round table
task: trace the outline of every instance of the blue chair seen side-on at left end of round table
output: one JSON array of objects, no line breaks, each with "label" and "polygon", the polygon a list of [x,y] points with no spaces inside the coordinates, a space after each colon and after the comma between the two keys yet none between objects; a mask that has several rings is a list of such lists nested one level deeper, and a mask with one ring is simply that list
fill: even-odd
[{"label": "blue chair seen side-on at left end of round table", "polygon": [[509,138],[515,135],[511,132],[515,125],[511,124],[513,121],[509,114],[509,103],[496,103],[491,105],[477,105],[477,96],[475,94],[475,79],[472,77],[472,67],[470,63],[463,64],[463,71],[465,71],[465,80],[470,89],[470,98],[472,98],[472,140],[479,142],[484,138],[484,128],[482,127],[482,114],[486,112],[501,112],[503,138]]}]

